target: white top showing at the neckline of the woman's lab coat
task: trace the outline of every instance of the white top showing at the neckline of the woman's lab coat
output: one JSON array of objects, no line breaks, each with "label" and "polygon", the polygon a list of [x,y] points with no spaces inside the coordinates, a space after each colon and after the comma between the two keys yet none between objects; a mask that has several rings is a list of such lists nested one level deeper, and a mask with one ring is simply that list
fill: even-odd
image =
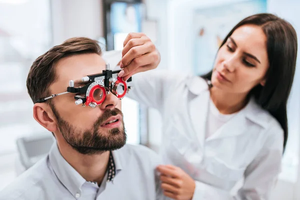
[{"label": "white top showing at the neckline of the woman's lab coat", "polygon": [[[241,111],[241,110],[240,110]],[[207,139],[213,133],[215,133],[223,124],[229,121],[237,112],[232,114],[222,114],[214,105],[211,98],[209,98],[209,112],[207,112],[207,122],[206,122],[206,134]]]}]

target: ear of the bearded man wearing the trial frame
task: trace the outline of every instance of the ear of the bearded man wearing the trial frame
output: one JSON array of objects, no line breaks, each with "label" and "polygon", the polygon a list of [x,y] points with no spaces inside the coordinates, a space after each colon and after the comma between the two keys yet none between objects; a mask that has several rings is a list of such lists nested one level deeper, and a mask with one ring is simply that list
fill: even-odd
[{"label": "ear of the bearded man wearing the trial frame", "polygon": [[48,104],[35,103],[33,105],[33,118],[50,132],[56,131],[56,119]]}]

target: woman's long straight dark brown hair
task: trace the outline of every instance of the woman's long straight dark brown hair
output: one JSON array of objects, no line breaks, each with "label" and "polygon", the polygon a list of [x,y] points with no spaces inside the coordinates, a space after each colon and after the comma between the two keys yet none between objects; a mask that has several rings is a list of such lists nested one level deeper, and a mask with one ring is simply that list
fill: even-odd
[{"label": "woman's long straight dark brown hair", "polygon": [[[244,24],[261,27],[266,35],[269,68],[266,72],[265,85],[252,88],[249,95],[280,123],[284,131],[283,150],[287,141],[286,103],[295,72],[297,56],[297,35],[290,23],[270,13],[248,16],[237,23],[227,34],[220,47],[233,31]],[[201,77],[211,79],[212,70]]]}]

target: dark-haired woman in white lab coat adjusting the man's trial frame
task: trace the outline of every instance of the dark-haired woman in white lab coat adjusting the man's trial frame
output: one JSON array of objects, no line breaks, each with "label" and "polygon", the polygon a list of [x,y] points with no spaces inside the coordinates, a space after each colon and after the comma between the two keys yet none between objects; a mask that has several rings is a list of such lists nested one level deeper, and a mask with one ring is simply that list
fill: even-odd
[{"label": "dark-haired woman in white lab coat adjusting the man's trial frame", "polygon": [[[156,66],[144,61],[154,52],[144,38],[136,33],[125,39],[119,74],[124,79]],[[269,198],[287,140],[296,53],[293,27],[261,13],[232,28],[213,69],[202,77],[159,70],[132,77],[129,96],[162,114],[161,155],[167,165],[157,170],[165,196]],[[231,195],[240,179],[242,186]]]}]

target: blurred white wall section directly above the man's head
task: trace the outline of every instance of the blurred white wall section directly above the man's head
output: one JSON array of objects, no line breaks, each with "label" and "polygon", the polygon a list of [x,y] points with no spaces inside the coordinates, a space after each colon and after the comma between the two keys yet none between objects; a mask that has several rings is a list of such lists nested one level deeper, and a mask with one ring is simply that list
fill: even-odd
[{"label": "blurred white wall section directly above the man's head", "polygon": [[73,36],[103,36],[101,0],[52,0],[53,44]]}]

